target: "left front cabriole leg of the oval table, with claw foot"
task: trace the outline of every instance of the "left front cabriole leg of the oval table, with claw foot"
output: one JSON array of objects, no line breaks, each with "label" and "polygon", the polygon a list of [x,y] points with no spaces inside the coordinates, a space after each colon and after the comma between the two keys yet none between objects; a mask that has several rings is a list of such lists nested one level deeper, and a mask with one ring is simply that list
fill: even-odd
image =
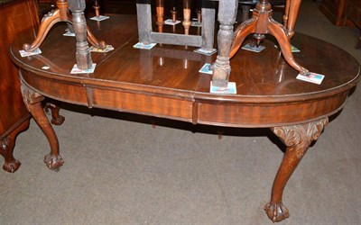
[{"label": "left front cabriole leg of the oval table, with claw foot", "polygon": [[59,154],[58,138],[42,109],[42,100],[44,100],[44,97],[41,94],[33,91],[29,86],[25,85],[22,79],[20,81],[23,102],[25,103],[28,111],[32,114],[34,120],[38,123],[39,127],[44,132],[51,146],[51,153],[44,157],[44,163],[51,170],[59,171],[60,166],[64,164],[64,161]]}]

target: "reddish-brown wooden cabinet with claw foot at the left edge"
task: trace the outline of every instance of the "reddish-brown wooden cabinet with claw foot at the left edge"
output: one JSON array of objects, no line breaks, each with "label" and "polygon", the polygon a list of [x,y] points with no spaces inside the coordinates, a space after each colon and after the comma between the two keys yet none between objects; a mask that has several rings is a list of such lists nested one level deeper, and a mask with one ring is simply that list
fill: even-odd
[{"label": "reddish-brown wooden cabinet with claw foot at the left edge", "polygon": [[28,128],[30,113],[23,104],[19,71],[9,58],[8,48],[24,30],[33,38],[39,25],[37,2],[14,0],[1,4],[0,22],[0,154],[5,158],[5,171],[14,172],[20,166],[13,156],[15,139]]}]

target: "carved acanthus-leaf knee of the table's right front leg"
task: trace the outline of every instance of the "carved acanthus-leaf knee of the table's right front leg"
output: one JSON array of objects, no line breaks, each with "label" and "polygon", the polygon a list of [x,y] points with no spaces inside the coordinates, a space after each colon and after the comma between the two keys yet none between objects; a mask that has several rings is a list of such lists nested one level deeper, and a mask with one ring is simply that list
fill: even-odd
[{"label": "carved acanthus-leaf knee of the table's right front leg", "polygon": [[319,139],[323,128],[329,123],[329,118],[311,121],[301,125],[274,127],[273,133],[282,139],[287,147],[293,147],[298,158],[303,157],[313,140]]}]

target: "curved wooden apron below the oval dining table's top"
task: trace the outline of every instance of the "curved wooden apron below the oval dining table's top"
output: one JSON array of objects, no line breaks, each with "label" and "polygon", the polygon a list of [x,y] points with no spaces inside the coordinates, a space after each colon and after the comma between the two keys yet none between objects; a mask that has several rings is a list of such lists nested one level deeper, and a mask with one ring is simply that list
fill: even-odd
[{"label": "curved wooden apron below the oval dining table's top", "polygon": [[[315,121],[342,109],[348,91],[286,103],[222,103],[157,93],[135,93],[46,79],[22,70],[23,81],[39,94],[61,102],[118,112],[133,112],[177,121],[229,127],[274,127]],[[276,116],[275,116],[276,115]]]}]

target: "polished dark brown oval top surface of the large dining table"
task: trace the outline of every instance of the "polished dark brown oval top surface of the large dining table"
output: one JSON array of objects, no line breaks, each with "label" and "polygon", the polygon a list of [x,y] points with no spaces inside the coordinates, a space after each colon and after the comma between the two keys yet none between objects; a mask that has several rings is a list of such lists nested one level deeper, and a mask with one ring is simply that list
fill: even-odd
[{"label": "polished dark brown oval top surface of the large dining table", "polygon": [[[97,63],[93,74],[71,75],[75,60],[75,38],[62,36],[65,23],[52,29],[45,38],[38,56],[22,58],[19,49],[23,43],[31,42],[31,35],[21,36],[13,44],[11,54],[19,65],[30,71],[53,79],[97,85],[127,85],[128,88],[156,88],[157,92],[172,94],[201,94],[207,98],[225,98],[226,95],[209,94],[211,76],[200,74],[199,68],[205,62],[214,62],[216,55],[203,56],[193,52],[195,48],[160,46],[151,50],[134,49],[137,43],[135,16],[114,15],[97,23],[88,21],[98,40],[105,40],[115,49],[107,53],[92,53]],[[180,23],[181,26],[181,23]],[[271,36],[269,38],[272,38]],[[255,53],[240,49],[231,59],[230,82],[236,82],[237,94],[226,98],[247,101],[288,101],[290,97],[308,98],[328,94],[333,90],[356,83],[359,65],[347,52],[325,41],[296,33],[292,45],[301,49],[294,58],[310,71],[325,75],[321,85],[297,80],[298,72],[282,58],[275,41],[265,40],[265,49]],[[44,70],[42,67],[49,66]],[[153,90],[154,91],[154,90]]]}]

